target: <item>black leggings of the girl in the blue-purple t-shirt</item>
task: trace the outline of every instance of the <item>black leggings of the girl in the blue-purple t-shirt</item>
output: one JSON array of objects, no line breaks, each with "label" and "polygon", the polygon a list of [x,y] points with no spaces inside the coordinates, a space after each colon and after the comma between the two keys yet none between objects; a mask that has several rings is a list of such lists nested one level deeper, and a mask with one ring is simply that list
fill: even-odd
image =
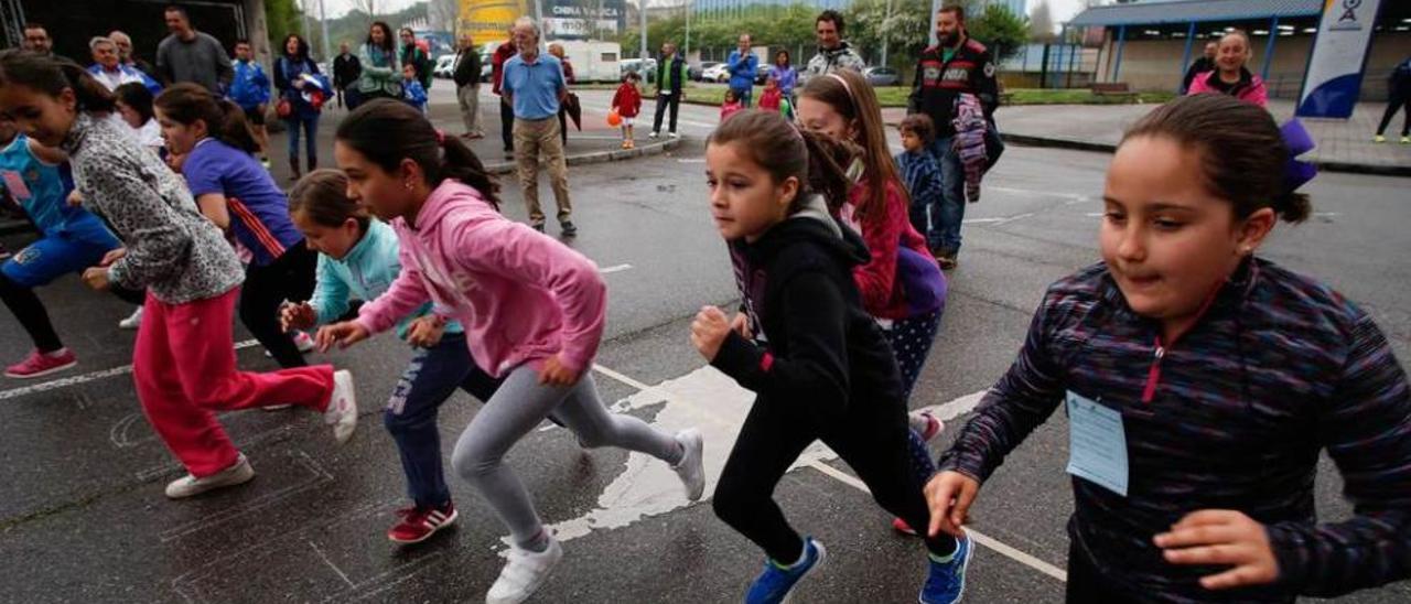
[{"label": "black leggings of the girl in the blue-purple t-shirt", "polygon": [[254,264],[246,270],[240,291],[240,322],[270,351],[279,367],[303,367],[308,363],[288,333],[279,329],[279,305],[306,301],[313,295],[319,255],[302,243],[285,250],[274,262]]}]

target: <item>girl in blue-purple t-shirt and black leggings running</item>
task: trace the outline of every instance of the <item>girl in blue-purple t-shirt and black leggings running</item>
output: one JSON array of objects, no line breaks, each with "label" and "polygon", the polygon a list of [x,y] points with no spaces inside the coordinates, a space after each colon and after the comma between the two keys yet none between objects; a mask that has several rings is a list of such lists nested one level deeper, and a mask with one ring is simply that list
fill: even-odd
[{"label": "girl in blue-purple t-shirt and black leggings running", "polygon": [[306,366],[299,344],[279,329],[279,305],[309,298],[319,257],[301,244],[288,198],[251,155],[260,144],[244,110],[202,86],[179,83],[157,96],[157,120],[166,150],[183,157],[181,174],[200,213],[251,253],[240,322],[279,367]]}]

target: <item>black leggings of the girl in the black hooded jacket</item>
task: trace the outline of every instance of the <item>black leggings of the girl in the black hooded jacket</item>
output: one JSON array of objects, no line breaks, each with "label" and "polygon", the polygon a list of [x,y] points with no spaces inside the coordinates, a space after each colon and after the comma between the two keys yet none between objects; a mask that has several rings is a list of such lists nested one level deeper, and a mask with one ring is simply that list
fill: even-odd
[{"label": "black leggings of the girl in the black hooded jacket", "polygon": [[[878,505],[924,531],[930,511],[921,478],[912,470],[907,430],[900,401],[852,401],[845,416],[818,429],[780,405],[756,399],[715,485],[715,515],[775,562],[797,560],[803,539],[775,502],[775,485],[809,445],[823,440],[866,483]],[[947,556],[955,539],[941,533],[927,538],[926,548]]]}]

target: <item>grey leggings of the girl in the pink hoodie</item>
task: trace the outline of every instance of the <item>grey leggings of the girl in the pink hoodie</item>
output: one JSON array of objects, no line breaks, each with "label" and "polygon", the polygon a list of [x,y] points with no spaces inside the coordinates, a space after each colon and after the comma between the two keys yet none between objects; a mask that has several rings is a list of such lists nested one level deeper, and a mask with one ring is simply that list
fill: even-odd
[{"label": "grey leggings of the girl in the pink hoodie", "polygon": [[504,463],[519,439],[553,413],[586,447],[617,446],[677,464],[684,452],[676,439],[631,415],[610,413],[593,375],[569,388],[539,384],[539,373],[519,366],[476,413],[456,440],[452,467],[495,508],[519,548],[540,539],[543,525],[519,477]]}]

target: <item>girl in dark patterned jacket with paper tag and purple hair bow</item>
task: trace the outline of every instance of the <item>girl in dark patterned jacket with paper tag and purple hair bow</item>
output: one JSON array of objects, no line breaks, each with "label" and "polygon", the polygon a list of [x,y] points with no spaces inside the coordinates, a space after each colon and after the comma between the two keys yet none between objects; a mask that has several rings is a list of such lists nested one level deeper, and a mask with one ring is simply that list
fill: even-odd
[{"label": "girl in dark patterned jacket with paper tag and purple hair bow", "polygon": [[[1411,391],[1381,330],[1254,255],[1308,216],[1263,109],[1174,100],[1108,171],[1103,262],[1044,295],[1024,347],[927,484],[961,533],[981,483],[1062,404],[1068,601],[1338,596],[1411,576]],[[1319,524],[1326,450],[1352,518]]]}]

